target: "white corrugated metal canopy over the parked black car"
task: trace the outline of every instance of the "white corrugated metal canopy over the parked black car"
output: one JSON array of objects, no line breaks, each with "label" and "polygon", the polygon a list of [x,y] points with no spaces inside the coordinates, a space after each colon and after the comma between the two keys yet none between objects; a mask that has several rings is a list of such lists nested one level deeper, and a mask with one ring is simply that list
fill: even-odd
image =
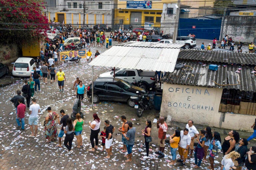
[{"label": "white corrugated metal canopy over the parked black car", "polygon": [[126,42],[114,45],[89,65],[172,72],[182,44]]}]

